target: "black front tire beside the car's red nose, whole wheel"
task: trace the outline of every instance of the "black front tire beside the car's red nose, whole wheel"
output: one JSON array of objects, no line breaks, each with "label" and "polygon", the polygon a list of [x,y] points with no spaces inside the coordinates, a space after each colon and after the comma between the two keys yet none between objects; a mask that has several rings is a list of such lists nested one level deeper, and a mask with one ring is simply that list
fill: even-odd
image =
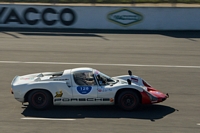
[{"label": "black front tire beside the car's red nose, whole wheel", "polygon": [[131,111],[139,106],[139,97],[133,91],[124,91],[118,97],[119,107]]}]

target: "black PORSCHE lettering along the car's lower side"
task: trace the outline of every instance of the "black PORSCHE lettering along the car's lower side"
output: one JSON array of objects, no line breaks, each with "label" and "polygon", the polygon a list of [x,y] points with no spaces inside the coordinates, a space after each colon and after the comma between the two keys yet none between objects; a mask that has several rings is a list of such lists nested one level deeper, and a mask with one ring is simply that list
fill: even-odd
[{"label": "black PORSCHE lettering along the car's lower side", "polygon": [[[55,101],[55,100],[54,100]],[[72,102],[72,101],[114,101],[113,98],[63,98],[63,102]]]}]

